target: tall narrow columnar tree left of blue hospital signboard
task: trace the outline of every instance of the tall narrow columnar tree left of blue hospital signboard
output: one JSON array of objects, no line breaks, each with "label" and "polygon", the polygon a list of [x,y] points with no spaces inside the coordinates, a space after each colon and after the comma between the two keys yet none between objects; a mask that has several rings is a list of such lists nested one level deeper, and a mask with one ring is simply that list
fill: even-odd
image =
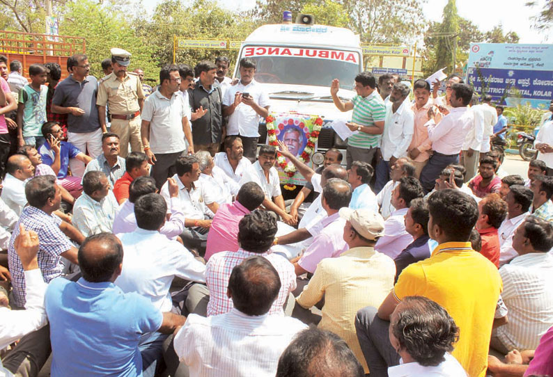
[{"label": "tall narrow columnar tree left of blue hospital signboard", "polygon": [[449,72],[453,73],[453,57],[456,58],[456,46],[459,32],[459,16],[457,14],[457,6],[455,0],[449,0],[444,8],[442,24],[439,26],[437,33],[437,43],[435,49],[436,63],[435,69],[439,70],[443,67],[449,67]]}]

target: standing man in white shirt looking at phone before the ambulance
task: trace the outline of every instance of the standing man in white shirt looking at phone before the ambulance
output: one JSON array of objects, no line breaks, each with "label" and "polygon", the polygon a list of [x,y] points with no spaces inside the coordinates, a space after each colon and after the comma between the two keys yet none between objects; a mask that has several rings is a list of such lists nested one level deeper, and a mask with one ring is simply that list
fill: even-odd
[{"label": "standing man in white shirt looking at phone before the ambulance", "polygon": [[269,115],[269,96],[257,81],[256,62],[249,58],[240,60],[240,82],[226,89],[223,98],[223,115],[228,116],[226,134],[240,135],[244,145],[244,157],[256,161],[259,138],[259,118]]}]

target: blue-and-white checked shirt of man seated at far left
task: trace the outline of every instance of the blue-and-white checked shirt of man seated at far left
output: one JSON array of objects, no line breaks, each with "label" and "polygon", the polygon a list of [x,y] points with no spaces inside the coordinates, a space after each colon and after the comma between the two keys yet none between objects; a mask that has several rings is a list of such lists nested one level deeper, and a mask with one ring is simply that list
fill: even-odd
[{"label": "blue-and-white checked shirt of man seated at far left", "polygon": [[34,230],[38,234],[38,268],[40,268],[45,282],[61,275],[63,265],[60,262],[60,255],[73,245],[59,229],[59,225],[61,225],[59,217],[49,215],[36,207],[23,209],[20,220],[13,230],[8,248],[13,298],[15,305],[23,307],[25,305],[25,275],[20,257],[13,248],[15,237],[20,234],[20,223],[24,225],[25,230]]}]

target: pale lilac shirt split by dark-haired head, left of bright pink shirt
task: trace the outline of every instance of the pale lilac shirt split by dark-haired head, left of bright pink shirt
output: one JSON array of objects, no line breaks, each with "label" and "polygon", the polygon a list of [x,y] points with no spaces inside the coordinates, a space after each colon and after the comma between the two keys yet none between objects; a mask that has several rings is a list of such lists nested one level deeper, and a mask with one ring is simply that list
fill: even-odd
[{"label": "pale lilac shirt split by dark-haired head, left of bright pink shirt", "polygon": [[[166,236],[168,239],[176,239],[185,230],[185,212],[182,202],[179,198],[171,198],[169,209],[171,210],[171,218],[166,220],[159,233]],[[114,234],[130,233],[137,230],[137,217],[134,216],[134,203],[130,200],[125,200],[120,204],[117,214],[114,219]]]}]

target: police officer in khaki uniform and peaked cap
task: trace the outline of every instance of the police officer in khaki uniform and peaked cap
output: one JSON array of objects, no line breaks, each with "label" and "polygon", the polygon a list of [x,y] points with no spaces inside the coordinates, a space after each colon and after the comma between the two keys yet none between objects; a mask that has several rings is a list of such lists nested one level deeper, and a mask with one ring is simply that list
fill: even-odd
[{"label": "police officer in khaki uniform and peaked cap", "polygon": [[[134,72],[127,72],[131,54],[124,49],[111,49],[114,72],[100,80],[98,86],[98,118],[106,120],[106,104],[111,114],[111,132],[120,138],[120,157],[127,157],[129,142],[132,152],[143,152],[140,138],[140,111],[144,103],[142,83]],[[104,125],[102,125],[103,127]]]}]

